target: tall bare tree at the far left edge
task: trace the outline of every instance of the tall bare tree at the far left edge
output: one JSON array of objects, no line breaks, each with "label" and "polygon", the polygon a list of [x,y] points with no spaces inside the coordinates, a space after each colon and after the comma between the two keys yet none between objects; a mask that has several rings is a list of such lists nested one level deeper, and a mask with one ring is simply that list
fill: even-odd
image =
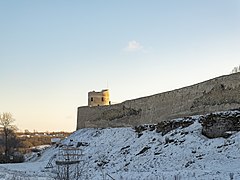
[{"label": "tall bare tree at the far left edge", "polygon": [[14,121],[11,113],[0,114],[0,126],[3,133],[4,152],[6,157],[9,157],[9,151],[15,139],[14,131],[16,130],[16,127],[12,125]]}]

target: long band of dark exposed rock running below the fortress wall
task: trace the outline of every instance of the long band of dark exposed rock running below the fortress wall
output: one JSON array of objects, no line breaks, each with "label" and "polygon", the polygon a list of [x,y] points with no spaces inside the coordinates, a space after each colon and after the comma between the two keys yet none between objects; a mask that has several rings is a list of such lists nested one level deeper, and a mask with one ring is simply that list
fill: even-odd
[{"label": "long band of dark exposed rock running below the fortress wall", "polygon": [[[184,117],[171,121],[162,121],[157,124],[135,126],[138,137],[143,131],[155,131],[162,136],[178,128],[186,128],[198,121],[202,125],[202,134],[208,138],[228,138],[240,131],[240,109],[210,113],[196,117]],[[185,132],[188,133],[188,132]],[[174,140],[173,140],[174,141]]]}]

